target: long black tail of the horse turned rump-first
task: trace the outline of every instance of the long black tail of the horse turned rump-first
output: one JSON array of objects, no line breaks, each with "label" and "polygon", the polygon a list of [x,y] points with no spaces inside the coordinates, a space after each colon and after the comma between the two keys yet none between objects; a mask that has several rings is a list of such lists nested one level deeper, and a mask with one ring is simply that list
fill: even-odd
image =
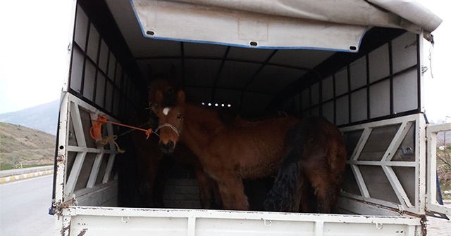
[{"label": "long black tail of the horse turned rump-first", "polygon": [[299,159],[301,157],[299,147],[292,145],[293,138],[297,140],[299,134],[293,131],[296,126],[288,131],[285,140],[285,157],[283,157],[280,164],[280,169],[273,188],[266,195],[264,208],[266,211],[298,211],[299,202],[297,200],[297,192],[299,190],[299,175],[301,174],[301,167],[299,166]]}]

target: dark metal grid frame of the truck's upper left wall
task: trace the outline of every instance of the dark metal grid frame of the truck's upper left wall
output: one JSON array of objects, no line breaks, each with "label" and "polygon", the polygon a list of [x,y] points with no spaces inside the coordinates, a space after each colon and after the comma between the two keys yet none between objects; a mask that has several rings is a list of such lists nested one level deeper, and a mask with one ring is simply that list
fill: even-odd
[{"label": "dark metal grid frame of the truck's upper left wall", "polygon": [[[118,117],[118,119],[123,119],[125,117],[122,117],[121,114],[127,114],[130,112],[132,107],[137,107],[137,100],[140,100],[142,96],[144,96],[144,91],[142,88],[145,88],[145,86],[142,86],[142,81],[140,81],[141,76],[137,75],[135,73],[130,73],[128,67],[125,67],[122,58],[118,58],[116,54],[122,55],[123,52],[117,52],[114,51],[114,48],[111,48],[111,45],[107,45],[104,41],[104,33],[103,31],[100,32],[99,29],[96,28],[96,25],[99,24],[99,22],[95,20],[99,20],[98,18],[95,18],[94,21],[92,21],[91,18],[87,17],[87,22],[85,22],[87,25],[85,25],[85,31],[83,32],[75,32],[77,29],[80,29],[77,27],[77,24],[80,24],[81,22],[78,20],[80,15],[86,15],[85,9],[80,6],[80,4],[75,5],[76,13],[75,13],[75,21],[74,21],[74,30],[73,30],[73,38],[71,39],[71,45],[70,50],[76,51],[81,56],[81,61],[75,60],[74,57],[75,53],[71,53],[70,59],[70,73],[69,73],[69,79],[68,79],[68,91],[70,93],[78,95],[82,100],[84,100],[86,103],[89,103],[90,105],[94,107],[103,108],[106,113],[108,113],[110,116]],[[98,35],[98,39],[93,41],[94,39],[91,39],[90,34],[92,32],[95,32],[95,34]],[[77,39],[75,39],[75,33],[82,34],[84,36],[85,41],[84,45],[80,45],[79,42],[77,42]],[[81,40],[81,39],[80,39]],[[115,44],[118,44],[117,42],[114,42]],[[116,45],[113,45],[116,46]],[[96,51],[94,52],[94,55],[89,55],[89,48],[96,48]],[[101,68],[100,60],[101,60],[101,52],[106,53],[106,68]],[[94,58],[92,58],[94,57]],[[78,91],[78,88],[73,88],[73,84],[71,84],[71,81],[73,81],[73,73],[72,71],[78,70],[78,68],[75,68],[74,65],[76,63],[80,63],[80,91]],[[92,81],[89,81],[91,84],[93,84],[92,88],[92,100],[89,98],[86,98],[85,93],[85,82],[86,81],[86,71],[87,67],[89,65],[92,65],[92,69],[94,70],[94,76],[92,78]],[[130,64],[130,63],[129,63]],[[133,71],[137,71],[135,68],[132,68]],[[130,76],[131,74],[131,76]],[[99,84],[99,77],[104,78],[104,84]],[[135,91],[133,93],[130,93],[126,87],[130,86],[130,84],[135,88]],[[111,98],[109,98],[108,95],[108,89],[111,89]],[[97,93],[99,91],[103,91],[103,98],[99,98],[102,102],[97,103]],[[106,100],[107,98],[111,99],[111,104],[107,104]],[[117,103],[117,104],[116,104]]]}]

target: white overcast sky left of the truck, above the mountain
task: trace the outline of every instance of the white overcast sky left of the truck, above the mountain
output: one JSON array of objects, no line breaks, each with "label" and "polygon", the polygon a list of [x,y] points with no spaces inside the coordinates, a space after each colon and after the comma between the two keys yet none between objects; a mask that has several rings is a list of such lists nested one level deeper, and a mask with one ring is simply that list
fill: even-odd
[{"label": "white overcast sky left of the truck, above the mountain", "polygon": [[0,1],[0,114],[60,98],[72,2]]}]

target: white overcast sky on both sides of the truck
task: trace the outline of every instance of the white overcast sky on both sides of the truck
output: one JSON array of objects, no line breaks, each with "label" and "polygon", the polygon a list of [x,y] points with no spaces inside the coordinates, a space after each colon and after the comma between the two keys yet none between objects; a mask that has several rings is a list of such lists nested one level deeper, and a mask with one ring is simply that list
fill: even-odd
[{"label": "white overcast sky on both sides of the truck", "polygon": [[[443,19],[424,41],[424,109],[430,120],[451,122],[451,17],[445,0],[420,0]],[[73,0],[0,1],[0,114],[23,110],[61,96],[68,78],[70,11]],[[432,69],[428,56],[431,50]],[[432,74],[431,74],[432,72]],[[432,77],[433,76],[433,77]]]}]

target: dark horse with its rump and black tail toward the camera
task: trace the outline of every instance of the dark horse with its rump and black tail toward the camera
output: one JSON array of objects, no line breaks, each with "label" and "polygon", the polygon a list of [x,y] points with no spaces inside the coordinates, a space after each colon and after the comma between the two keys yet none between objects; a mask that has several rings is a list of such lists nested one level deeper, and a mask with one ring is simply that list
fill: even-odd
[{"label": "dark horse with its rump and black tail toward the camera", "polygon": [[[346,147],[342,133],[324,118],[310,117],[293,126],[285,138],[285,157],[266,211],[330,213],[340,193]],[[300,207],[299,207],[300,204]]]}]

